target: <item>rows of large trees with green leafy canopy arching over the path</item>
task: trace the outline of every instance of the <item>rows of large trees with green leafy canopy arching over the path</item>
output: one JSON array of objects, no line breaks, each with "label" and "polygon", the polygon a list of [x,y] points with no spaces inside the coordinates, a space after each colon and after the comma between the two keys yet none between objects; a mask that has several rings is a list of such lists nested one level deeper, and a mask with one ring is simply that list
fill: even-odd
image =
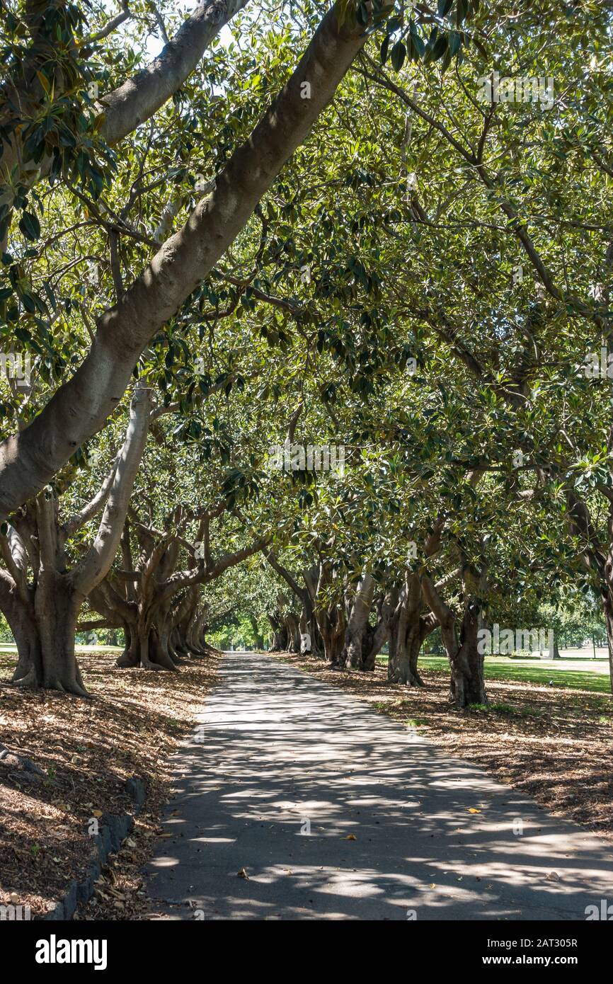
[{"label": "rows of large trees with green leafy canopy arching over the path", "polygon": [[461,707],[580,596],[613,665],[610,5],[2,8],[16,681],[268,619]]}]

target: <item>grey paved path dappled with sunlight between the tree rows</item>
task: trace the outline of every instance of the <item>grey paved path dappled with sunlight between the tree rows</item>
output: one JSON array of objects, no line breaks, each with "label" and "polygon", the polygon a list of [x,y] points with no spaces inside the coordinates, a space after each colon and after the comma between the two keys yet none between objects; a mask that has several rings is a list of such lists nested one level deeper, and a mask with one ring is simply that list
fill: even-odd
[{"label": "grey paved path dappled with sunlight between the tree rows", "polygon": [[171,918],[582,920],[613,902],[604,841],[278,660],[221,672],[147,869]]}]

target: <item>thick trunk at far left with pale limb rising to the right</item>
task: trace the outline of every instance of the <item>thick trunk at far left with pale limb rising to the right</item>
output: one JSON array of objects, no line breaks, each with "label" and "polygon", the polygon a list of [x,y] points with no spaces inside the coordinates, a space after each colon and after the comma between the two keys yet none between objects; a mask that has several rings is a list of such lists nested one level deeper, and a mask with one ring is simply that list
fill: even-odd
[{"label": "thick trunk at far left with pale limb rising to the right", "polygon": [[[75,656],[79,610],[109,570],[119,545],[123,517],[147,440],[151,392],[135,390],[126,438],[97,494],[79,512],[60,519],[58,487],[39,493],[13,518],[0,538],[6,571],[0,575],[0,606],[18,645],[15,681],[87,696]],[[102,511],[89,548],[73,563],[69,541]],[[29,579],[31,569],[32,581]]]}]

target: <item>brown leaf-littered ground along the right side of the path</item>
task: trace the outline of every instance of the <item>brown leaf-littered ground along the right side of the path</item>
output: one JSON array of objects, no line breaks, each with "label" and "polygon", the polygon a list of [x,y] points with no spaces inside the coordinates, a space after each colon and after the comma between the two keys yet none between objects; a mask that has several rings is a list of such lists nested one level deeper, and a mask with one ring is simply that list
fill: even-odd
[{"label": "brown leaf-littered ground along the right side of the path", "polygon": [[320,659],[284,654],[284,661],[412,722],[441,748],[469,759],[501,782],[533,797],[555,816],[568,817],[613,839],[613,702],[577,688],[560,690],[487,679],[488,710],[449,706],[449,670],[420,661],[425,689],[389,684],[374,673],[331,670]]}]

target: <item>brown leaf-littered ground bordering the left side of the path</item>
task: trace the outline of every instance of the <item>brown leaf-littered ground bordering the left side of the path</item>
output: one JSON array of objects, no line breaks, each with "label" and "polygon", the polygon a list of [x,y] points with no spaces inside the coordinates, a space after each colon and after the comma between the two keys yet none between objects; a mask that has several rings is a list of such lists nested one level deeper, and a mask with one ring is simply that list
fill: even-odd
[{"label": "brown leaf-littered ground bordering the left side of the path", "polygon": [[106,870],[86,918],[125,918],[142,904],[139,866],[148,856],[167,795],[168,756],[189,733],[215,680],[216,658],[180,674],[118,670],[116,653],[80,655],[92,701],[7,685],[15,659],[0,653],[0,743],[42,775],[0,761],[0,904],[44,914],[85,872],[92,819],[133,812],[125,781],[144,779],[148,800],[121,864]]}]

